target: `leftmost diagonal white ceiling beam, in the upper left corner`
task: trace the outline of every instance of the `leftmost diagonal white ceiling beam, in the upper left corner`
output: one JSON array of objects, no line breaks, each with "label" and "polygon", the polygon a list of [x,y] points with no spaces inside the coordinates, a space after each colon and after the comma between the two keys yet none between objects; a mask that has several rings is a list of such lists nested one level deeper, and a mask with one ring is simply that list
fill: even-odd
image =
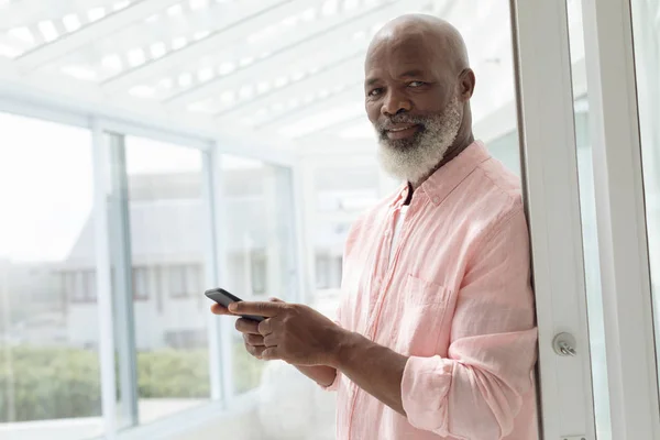
[{"label": "leftmost diagonal white ceiling beam, in the upper left corner", "polygon": [[47,43],[26,52],[16,58],[16,66],[22,72],[33,70],[38,66],[57,59],[75,50],[92,43],[103,36],[120,31],[136,21],[163,11],[169,4],[180,0],[140,0],[125,9],[112,12],[99,21],[88,23],[76,32],[65,34],[52,43]]}]

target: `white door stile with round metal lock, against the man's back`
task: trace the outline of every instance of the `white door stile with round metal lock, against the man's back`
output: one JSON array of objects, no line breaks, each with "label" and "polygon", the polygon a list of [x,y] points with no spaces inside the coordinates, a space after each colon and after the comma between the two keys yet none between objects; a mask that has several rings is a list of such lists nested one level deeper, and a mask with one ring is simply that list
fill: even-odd
[{"label": "white door stile with round metal lock, against the man's back", "polygon": [[[542,439],[595,440],[565,2],[512,0],[518,131],[532,244]],[[553,349],[572,334],[575,356]]]}]

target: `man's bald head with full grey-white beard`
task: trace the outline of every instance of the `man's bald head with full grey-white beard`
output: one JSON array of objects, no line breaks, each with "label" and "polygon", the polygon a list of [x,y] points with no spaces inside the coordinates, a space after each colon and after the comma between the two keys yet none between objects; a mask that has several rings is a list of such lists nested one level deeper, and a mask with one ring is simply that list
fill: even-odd
[{"label": "man's bald head with full grey-white beard", "polygon": [[474,73],[454,26],[403,15],[374,36],[364,63],[365,108],[386,169],[420,182],[473,141]]}]

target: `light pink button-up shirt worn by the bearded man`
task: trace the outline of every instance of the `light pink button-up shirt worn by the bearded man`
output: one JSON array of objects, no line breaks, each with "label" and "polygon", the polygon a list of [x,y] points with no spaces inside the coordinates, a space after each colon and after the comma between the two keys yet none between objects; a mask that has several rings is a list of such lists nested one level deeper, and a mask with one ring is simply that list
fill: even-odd
[{"label": "light pink button-up shirt worn by the bearded man", "polygon": [[349,233],[338,323],[408,356],[407,417],[338,373],[338,439],[537,439],[537,330],[519,179],[475,142]]}]

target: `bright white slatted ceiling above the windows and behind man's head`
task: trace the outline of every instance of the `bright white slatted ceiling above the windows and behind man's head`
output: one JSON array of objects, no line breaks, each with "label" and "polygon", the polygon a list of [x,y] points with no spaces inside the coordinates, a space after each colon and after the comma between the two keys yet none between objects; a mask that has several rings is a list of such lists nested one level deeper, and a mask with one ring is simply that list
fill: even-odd
[{"label": "bright white slatted ceiling above the windows and behind man's head", "polygon": [[278,145],[369,142],[364,53],[407,12],[463,33],[475,121],[513,100],[507,0],[0,0],[0,81]]}]

